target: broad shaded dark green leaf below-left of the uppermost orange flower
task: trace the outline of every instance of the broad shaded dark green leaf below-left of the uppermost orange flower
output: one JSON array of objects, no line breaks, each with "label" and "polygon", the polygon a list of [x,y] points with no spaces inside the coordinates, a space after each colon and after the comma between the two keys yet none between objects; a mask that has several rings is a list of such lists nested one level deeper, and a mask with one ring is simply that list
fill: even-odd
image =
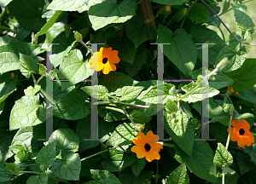
[{"label": "broad shaded dark green leaf below-left of the uppermost orange flower", "polygon": [[[59,95],[59,96],[57,96]],[[56,99],[59,97],[59,99]],[[55,105],[53,115],[67,120],[85,118],[90,114],[90,102],[86,101],[88,95],[81,90],[61,92],[61,88],[54,93]]]}]

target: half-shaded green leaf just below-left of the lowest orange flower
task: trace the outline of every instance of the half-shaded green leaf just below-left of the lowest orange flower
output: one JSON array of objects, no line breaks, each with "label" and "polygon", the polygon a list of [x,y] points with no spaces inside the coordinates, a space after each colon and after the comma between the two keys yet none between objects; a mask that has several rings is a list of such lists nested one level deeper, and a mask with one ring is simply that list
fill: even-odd
[{"label": "half-shaded green leaf just below-left of the lowest orange flower", "polygon": [[109,172],[119,172],[135,162],[134,158],[131,158],[124,152],[115,149],[109,150],[107,157],[106,155],[102,155],[102,157],[105,158],[102,161],[102,167],[104,170],[108,170]]}]

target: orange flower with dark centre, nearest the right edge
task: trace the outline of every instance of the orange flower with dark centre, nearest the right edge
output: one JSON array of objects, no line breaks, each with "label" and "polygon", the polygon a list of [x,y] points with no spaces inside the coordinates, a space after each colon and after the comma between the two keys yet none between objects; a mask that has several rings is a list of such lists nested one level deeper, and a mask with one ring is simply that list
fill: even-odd
[{"label": "orange flower with dark centre, nearest the right edge", "polygon": [[254,143],[254,135],[249,131],[250,124],[245,119],[241,122],[238,119],[234,119],[232,126],[230,127],[230,140],[237,141],[238,147],[250,147]]}]

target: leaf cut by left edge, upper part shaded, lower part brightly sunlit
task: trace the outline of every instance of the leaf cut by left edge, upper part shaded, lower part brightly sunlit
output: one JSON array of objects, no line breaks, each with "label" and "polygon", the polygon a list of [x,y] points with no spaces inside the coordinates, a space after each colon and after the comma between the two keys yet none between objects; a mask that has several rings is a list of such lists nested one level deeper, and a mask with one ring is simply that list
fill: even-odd
[{"label": "leaf cut by left edge, upper part shaded, lower part brightly sunlit", "polygon": [[17,40],[1,46],[0,73],[19,70],[19,54],[34,56],[34,53],[32,53],[32,51],[36,50],[37,48],[37,45],[33,45],[31,43],[23,43]]}]

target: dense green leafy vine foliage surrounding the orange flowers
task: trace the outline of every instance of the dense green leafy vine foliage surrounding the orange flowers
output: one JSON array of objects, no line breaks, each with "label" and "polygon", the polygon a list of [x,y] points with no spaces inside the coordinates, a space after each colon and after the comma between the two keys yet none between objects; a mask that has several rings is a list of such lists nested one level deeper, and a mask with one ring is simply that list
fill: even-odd
[{"label": "dense green leafy vine foliage surrounding the orange flowers", "polygon": [[[227,131],[233,119],[245,119],[256,135],[256,58],[244,46],[255,30],[249,1],[225,0],[222,11],[222,0],[149,1],[0,0],[0,184],[256,183],[256,143],[238,147]],[[221,25],[212,11],[233,11],[240,35],[225,41],[209,29]],[[46,43],[55,43],[52,55]],[[116,71],[98,72],[97,91],[90,43],[118,50],[120,59]],[[171,43],[163,46],[164,83],[150,43]],[[195,43],[212,43],[210,76]],[[209,122],[201,122],[205,94]],[[97,141],[88,141],[91,99],[98,101]],[[160,160],[148,162],[131,152],[132,140],[139,131],[158,133],[160,105],[163,136],[172,141],[160,140]]]}]

